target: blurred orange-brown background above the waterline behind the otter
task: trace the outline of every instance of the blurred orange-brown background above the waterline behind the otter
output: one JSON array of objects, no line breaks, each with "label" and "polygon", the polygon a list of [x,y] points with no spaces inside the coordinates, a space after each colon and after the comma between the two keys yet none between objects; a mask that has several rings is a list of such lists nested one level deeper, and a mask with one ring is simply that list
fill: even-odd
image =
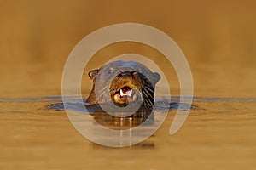
[{"label": "blurred orange-brown background above the waterline behind the otter", "polygon": [[[250,0],[1,0],[0,95],[60,96],[65,61],[81,39],[103,26],[134,22],[154,26],[177,42],[189,61],[196,96],[253,97],[255,7]],[[120,48],[154,54],[142,47],[134,51],[137,47],[121,45],[100,54],[113,56]],[[173,82],[178,93],[178,83]],[[89,90],[90,83],[84,94]]]}]

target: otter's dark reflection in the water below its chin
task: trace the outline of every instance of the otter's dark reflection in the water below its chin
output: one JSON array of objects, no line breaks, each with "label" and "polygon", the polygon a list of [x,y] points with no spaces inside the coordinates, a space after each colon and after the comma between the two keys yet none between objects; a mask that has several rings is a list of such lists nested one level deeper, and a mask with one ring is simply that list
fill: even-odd
[{"label": "otter's dark reflection in the water below its chin", "polygon": [[[120,117],[113,116],[107,112],[102,111],[99,105],[86,105],[87,110],[94,110],[90,112],[90,116],[93,121],[84,122],[91,124],[91,132],[97,135],[97,138],[104,140],[106,143],[110,142],[111,145],[129,146],[137,148],[154,148],[154,142],[148,142],[148,139],[134,144],[134,141],[138,139],[146,139],[145,137],[155,128],[155,119],[153,108],[140,109],[131,116]],[[116,115],[122,115],[121,112],[117,112]],[[102,127],[114,130],[111,136],[103,133]],[[139,128],[141,130],[135,130]],[[131,146],[133,145],[134,146]],[[102,148],[98,144],[92,144],[93,147]],[[105,144],[103,144],[105,145]],[[109,144],[106,144],[109,145]],[[103,147],[105,148],[105,147]]]}]

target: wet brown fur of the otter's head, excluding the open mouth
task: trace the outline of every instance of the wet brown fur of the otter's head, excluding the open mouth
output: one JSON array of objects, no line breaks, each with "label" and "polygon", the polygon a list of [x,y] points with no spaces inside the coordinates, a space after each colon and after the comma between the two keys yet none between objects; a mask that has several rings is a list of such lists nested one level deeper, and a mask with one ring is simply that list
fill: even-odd
[{"label": "wet brown fur of the otter's head, excluding the open mouth", "polygon": [[[114,99],[114,95],[120,88],[128,86],[140,92],[145,107],[154,105],[154,88],[160,80],[160,75],[150,71],[140,63],[134,61],[113,61],[103,65],[100,69],[90,71],[88,75],[93,81],[93,87],[86,103],[99,104],[109,102],[109,99]],[[102,90],[102,92],[99,92],[102,94],[98,97],[99,99],[96,98],[96,78],[99,82],[97,84],[99,88],[97,89]],[[109,82],[111,80],[112,82]],[[110,86],[108,86],[109,83]],[[110,87],[110,94],[105,93],[108,87]],[[110,98],[107,97],[108,95],[110,95]],[[136,97],[140,97],[139,94]],[[119,103],[119,101],[117,102]]]}]

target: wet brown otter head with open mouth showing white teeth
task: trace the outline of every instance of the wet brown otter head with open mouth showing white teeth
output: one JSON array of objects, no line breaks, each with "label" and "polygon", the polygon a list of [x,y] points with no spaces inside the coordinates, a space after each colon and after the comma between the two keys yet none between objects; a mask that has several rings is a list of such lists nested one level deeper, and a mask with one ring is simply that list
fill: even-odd
[{"label": "wet brown otter head with open mouth showing white teeth", "polygon": [[[160,75],[145,65],[120,60],[90,71],[89,77],[93,80],[93,88],[86,103],[102,104],[112,100],[120,107],[138,100],[142,101],[144,107],[153,106],[154,88],[160,80]],[[96,90],[99,94],[97,97]]]}]

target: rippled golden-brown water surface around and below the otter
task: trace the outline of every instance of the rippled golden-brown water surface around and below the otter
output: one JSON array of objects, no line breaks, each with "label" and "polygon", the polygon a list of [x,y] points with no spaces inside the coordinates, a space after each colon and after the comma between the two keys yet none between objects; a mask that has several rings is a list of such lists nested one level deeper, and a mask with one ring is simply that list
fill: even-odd
[{"label": "rippled golden-brown water surface around and below the otter", "polygon": [[[169,134],[177,111],[173,107],[153,136],[116,149],[85,139],[68,121],[63,108],[47,108],[60,102],[61,97],[0,99],[0,148],[4,153],[0,167],[95,169],[108,162],[113,169],[119,168],[119,163],[127,164],[124,169],[188,165],[194,169],[198,163],[206,167],[230,167],[234,161],[237,167],[252,167],[255,163],[255,98],[197,97],[194,105],[199,108],[190,111],[175,135]],[[147,160],[154,161],[145,164]]]}]

